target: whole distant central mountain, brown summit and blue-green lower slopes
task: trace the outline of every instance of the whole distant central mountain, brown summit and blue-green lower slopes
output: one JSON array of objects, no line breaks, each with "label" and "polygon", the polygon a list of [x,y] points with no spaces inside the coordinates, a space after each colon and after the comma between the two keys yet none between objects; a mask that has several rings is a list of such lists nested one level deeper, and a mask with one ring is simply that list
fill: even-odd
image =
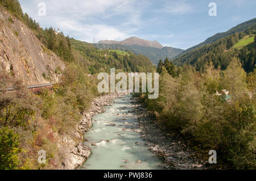
[{"label": "whole distant central mountain, brown summit and blue-green lower slopes", "polygon": [[98,49],[118,49],[130,51],[137,55],[142,54],[150,58],[155,65],[160,59],[164,60],[166,57],[172,59],[184,51],[179,48],[163,47],[158,41],[142,40],[138,37],[130,37],[123,41],[104,40],[93,45]]}]

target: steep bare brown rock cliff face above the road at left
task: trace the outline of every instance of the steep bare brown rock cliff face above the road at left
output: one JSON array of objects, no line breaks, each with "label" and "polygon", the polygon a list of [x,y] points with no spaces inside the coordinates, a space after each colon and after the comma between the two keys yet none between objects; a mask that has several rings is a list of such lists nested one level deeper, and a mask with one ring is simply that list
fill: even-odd
[{"label": "steep bare brown rock cliff face above the road at left", "polygon": [[0,6],[0,69],[22,78],[28,85],[59,81],[65,68],[51,50],[25,24]]}]

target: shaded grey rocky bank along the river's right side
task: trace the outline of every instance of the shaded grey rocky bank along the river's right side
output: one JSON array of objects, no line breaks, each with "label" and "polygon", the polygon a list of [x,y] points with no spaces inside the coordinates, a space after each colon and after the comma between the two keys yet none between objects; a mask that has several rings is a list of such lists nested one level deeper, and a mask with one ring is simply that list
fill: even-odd
[{"label": "shaded grey rocky bank along the river's right side", "polygon": [[174,137],[163,129],[142,104],[134,102],[133,106],[134,114],[139,121],[141,137],[146,141],[148,149],[164,161],[160,166],[177,170],[208,169],[207,161],[195,157],[195,151],[187,146],[183,138]]}]

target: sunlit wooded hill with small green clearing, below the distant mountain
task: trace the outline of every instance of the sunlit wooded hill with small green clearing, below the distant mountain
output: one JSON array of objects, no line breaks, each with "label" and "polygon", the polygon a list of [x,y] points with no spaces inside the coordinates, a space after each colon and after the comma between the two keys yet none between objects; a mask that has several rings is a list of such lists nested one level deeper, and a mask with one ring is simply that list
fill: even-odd
[{"label": "sunlit wooded hill with small green clearing, below the distant mountain", "polygon": [[92,44],[71,39],[75,61],[89,73],[109,72],[116,68],[126,72],[152,72],[155,67],[146,56],[133,52],[122,55],[109,50],[98,50]]}]

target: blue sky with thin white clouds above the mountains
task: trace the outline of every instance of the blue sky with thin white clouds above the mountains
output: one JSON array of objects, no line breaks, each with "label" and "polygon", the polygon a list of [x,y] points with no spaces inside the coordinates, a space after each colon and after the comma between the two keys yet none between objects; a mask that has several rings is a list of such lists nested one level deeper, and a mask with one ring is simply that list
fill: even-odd
[{"label": "blue sky with thin white clouds above the mountains", "polygon": [[[187,49],[256,18],[255,0],[19,0],[42,28],[93,43],[137,36]],[[216,3],[210,16],[209,3]],[[44,6],[45,5],[45,9]],[[46,11],[44,11],[46,10]],[[44,14],[44,12],[46,12]]]}]

